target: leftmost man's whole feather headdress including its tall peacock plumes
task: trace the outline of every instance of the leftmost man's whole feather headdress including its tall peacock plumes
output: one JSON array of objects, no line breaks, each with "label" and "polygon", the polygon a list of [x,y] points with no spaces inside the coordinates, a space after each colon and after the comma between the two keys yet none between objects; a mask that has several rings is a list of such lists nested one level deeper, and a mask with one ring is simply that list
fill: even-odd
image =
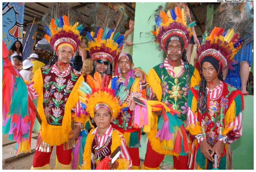
[{"label": "leftmost man's whole feather headdress including its tall peacock plumes", "polygon": [[78,11],[66,6],[53,6],[49,9],[49,13],[43,16],[42,23],[46,33],[44,38],[55,51],[58,51],[59,45],[64,43],[71,45],[73,52],[78,49],[80,34],[85,29],[77,22],[79,16],[81,15]]}]

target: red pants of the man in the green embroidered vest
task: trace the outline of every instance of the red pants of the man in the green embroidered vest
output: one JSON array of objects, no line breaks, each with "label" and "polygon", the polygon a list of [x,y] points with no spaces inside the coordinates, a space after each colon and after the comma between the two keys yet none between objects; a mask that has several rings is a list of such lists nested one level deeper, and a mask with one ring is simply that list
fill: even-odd
[{"label": "red pants of the man in the green embroidered vest", "polygon": [[[149,168],[157,168],[164,159],[164,154],[158,154],[152,149],[151,143],[148,142],[147,152],[145,155],[144,165]],[[173,164],[177,170],[188,170],[188,156],[179,156],[178,159],[173,156]]]}]

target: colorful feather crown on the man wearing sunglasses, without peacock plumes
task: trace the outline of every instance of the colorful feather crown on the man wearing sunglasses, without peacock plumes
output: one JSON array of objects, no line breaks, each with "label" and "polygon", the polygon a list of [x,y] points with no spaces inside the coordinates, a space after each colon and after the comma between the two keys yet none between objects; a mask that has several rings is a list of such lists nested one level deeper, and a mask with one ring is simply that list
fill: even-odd
[{"label": "colorful feather crown on the man wearing sunglasses, without peacock plumes", "polygon": [[108,59],[111,63],[119,52],[119,48],[124,44],[124,35],[109,28],[98,28],[95,32],[87,32],[88,48],[90,56],[95,61],[99,58]]}]

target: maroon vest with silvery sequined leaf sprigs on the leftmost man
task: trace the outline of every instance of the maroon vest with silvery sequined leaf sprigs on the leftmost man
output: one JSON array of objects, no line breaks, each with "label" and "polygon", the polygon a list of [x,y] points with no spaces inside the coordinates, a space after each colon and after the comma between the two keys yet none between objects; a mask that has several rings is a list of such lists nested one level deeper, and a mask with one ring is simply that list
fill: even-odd
[{"label": "maroon vest with silvery sequined leaf sprigs on the leftmost man", "polygon": [[43,76],[43,110],[50,125],[62,125],[64,109],[80,72],[71,68],[68,74],[51,73],[53,65],[41,68]]}]

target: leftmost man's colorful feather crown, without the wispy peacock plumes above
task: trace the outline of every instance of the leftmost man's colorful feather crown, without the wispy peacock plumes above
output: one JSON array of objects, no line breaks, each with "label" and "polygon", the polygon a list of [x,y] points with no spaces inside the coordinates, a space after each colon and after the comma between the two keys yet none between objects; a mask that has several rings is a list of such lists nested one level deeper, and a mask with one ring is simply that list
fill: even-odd
[{"label": "leftmost man's colorful feather crown, without the wispy peacock plumes above", "polygon": [[71,26],[68,16],[63,15],[59,18],[52,18],[51,23],[44,27],[46,32],[44,38],[55,51],[58,51],[60,44],[67,43],[72,46],[74,52],[79,47],[80,34],[84,29],[78,22]]}]

